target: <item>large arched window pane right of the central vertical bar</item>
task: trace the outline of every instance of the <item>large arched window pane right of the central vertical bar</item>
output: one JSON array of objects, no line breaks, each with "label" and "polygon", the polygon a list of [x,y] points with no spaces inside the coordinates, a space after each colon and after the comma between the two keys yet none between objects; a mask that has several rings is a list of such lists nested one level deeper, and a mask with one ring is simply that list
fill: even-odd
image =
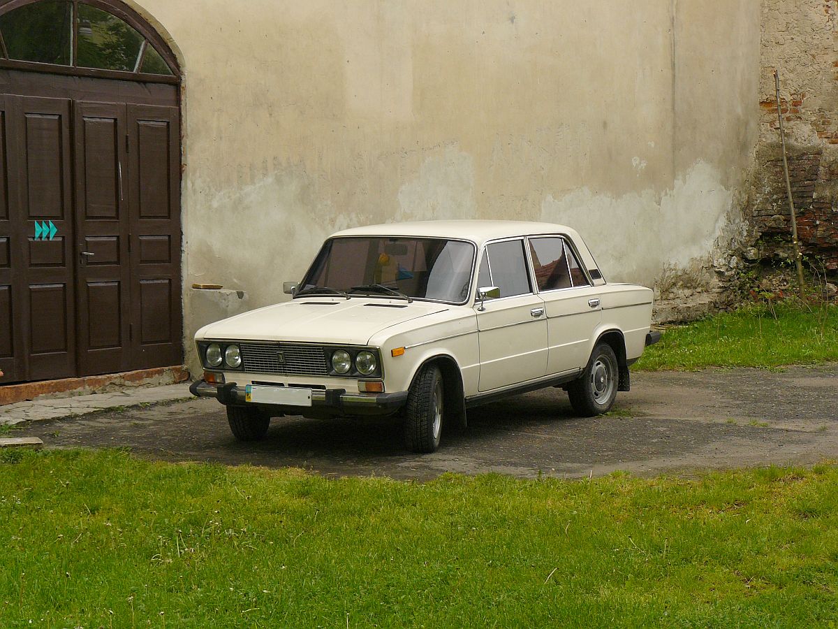
[{"label": "large arched window pane right of the central vertical bar", "polygon": [[79,5],[80,67],[133,72],[142,39],[141,34],[111,13]]}]

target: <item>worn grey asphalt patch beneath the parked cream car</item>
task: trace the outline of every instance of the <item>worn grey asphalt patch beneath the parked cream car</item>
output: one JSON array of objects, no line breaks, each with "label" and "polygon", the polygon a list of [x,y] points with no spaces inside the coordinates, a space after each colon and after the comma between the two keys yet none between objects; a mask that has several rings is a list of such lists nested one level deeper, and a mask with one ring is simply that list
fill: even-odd
[{"label": "worn grey asphalt patch beneath the parked cream car", "polygon": [[468,413],[468,431],[412,455],[397,426],[278,418],[265,441],[240,444],[215,400],[25,424],[47,448],[127,446],[163,460],[293,465],[328,476],[428,479],[445,471],[588,476],[629,470],[691,475],[705,468],[838,460],[838,365],[633,374],[608,416],[574,418],[548,389]]}]

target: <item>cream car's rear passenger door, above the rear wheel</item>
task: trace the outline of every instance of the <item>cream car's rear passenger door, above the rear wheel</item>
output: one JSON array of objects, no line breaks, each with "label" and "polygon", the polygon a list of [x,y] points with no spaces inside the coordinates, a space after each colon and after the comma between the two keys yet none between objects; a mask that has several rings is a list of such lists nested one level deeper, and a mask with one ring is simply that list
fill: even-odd
[{"label": "cream car's rear passenger door, above the rear wheel", "polygon": [[591,335],[602,318],[599,288],[579,264],[566,237],[527,239],[535,283],[546,309],[547,374],[587,364]]}]

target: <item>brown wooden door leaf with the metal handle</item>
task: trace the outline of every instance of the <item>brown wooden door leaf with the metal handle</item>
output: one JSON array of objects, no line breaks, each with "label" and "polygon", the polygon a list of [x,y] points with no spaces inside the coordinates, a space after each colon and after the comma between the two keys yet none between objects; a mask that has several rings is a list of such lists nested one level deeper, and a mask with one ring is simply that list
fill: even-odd
[{"label": "brown wooden door leaf with the metal handle", "polygon": [[75,103],[75,244],[79,375],[131,361],[127,108]]}]

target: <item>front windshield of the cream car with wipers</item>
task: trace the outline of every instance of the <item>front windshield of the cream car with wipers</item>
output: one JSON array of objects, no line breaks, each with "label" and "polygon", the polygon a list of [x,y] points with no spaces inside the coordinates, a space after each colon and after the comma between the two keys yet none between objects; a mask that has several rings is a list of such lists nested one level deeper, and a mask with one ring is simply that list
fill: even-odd
[{"label": "front windshield of the cream car with wipers", "polygon": [[468,299],[475,247],[442,238],[331,238],[297,295],[375,295],[462,304]]}]

